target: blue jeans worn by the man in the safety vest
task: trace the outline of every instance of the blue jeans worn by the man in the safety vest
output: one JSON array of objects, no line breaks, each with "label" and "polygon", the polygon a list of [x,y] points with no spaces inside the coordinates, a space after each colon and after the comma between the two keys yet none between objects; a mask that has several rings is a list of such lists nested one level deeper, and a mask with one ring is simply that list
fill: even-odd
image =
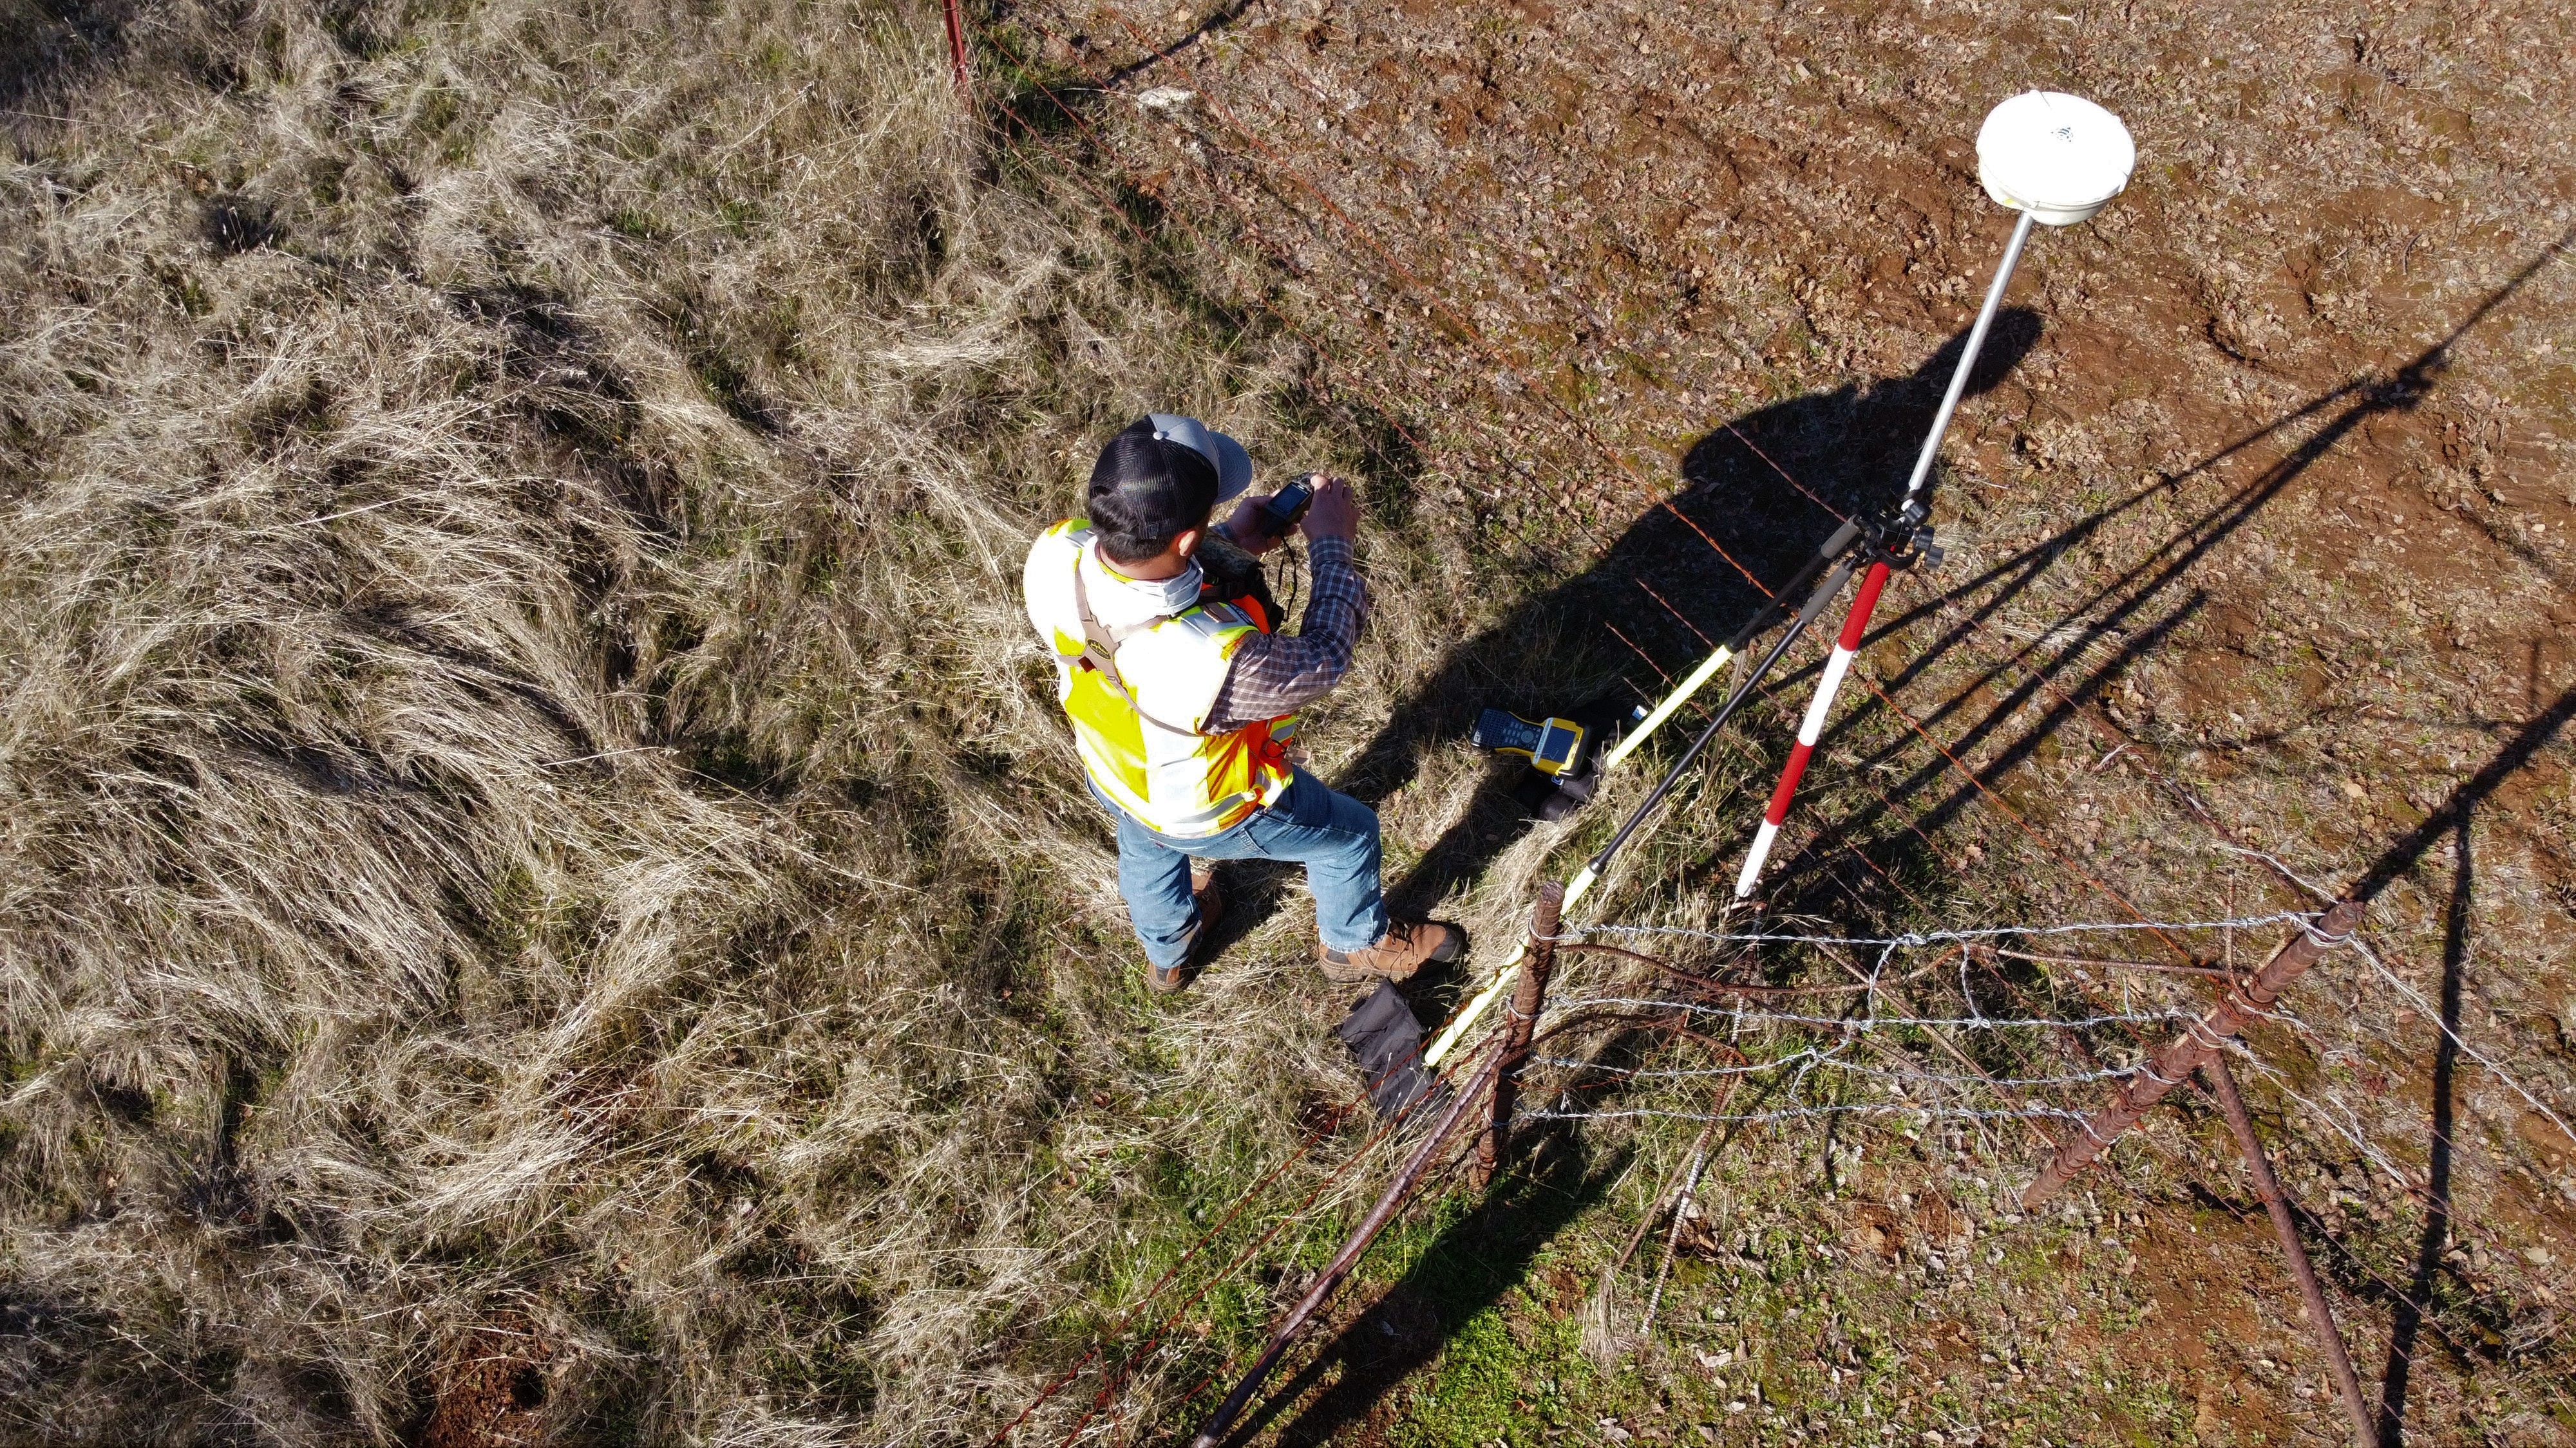
[{"label": "blue jeans worn by the man in the safety vest", "polygon": [[[1084,781],[1090,783],[1090,781]],[[1118,819],[1118,894],[1128,902],[1144,958],[1159,969],[1180,969],[1198,943],[1198,902],[1190,899],[1190,861],[1296,861],[1306,866],[1314,891],[1314,933],[1332,951],[1365,951],[1386,935],[1386,899],[1378,891],[1378,812],[1334,794],[1324,781],[1296,770],[1288,794],[1267,809],[1255,809],[1234,830],[1175,840],[1159,835],[1126,809],[1110,804]]]}]

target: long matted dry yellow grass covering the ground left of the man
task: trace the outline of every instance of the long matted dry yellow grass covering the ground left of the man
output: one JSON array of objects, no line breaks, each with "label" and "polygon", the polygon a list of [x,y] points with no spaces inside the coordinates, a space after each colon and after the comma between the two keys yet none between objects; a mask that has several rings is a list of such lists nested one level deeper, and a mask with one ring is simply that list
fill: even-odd
[{"label": "long matted dry yellow grass covering the ground left of the man", "polygon": [[1332,443],[935,15],[8,23],[0,1438],[969,1435],[1347,1098],[1141,1000],[1015,600],[1149,405]]}]

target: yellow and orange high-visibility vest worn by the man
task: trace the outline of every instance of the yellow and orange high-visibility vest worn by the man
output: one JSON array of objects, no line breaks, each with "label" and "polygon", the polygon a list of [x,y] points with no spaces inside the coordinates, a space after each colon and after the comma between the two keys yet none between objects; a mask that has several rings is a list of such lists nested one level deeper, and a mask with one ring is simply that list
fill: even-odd
[{"label": "yellow and orange high-visibility vest worn by the man", "polygon": [[1092,526],[1069,518],[1038,536],[1020,572],[1028,621],[1056,657],[1056,701],[1100,794],[1149,830],[1216,835],[1288,791],[1296,716],[1206,732],[1234,649],[1267,634],[1257,600],[1200,600],[1180,613],[1105,629],[1087,608],[1105,575]]}]

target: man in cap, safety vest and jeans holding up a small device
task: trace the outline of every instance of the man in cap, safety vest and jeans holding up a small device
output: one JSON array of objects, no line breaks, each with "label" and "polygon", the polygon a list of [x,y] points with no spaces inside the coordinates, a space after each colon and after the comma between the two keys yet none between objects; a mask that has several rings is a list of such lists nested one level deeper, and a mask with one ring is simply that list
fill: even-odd
[{"label": "man in cap, safety vest and jeans holding up a small device", "polygon": [[[1314,587],[1293,636],[1273,631],[1257,564],[1231,590],[1200,567],[1211,533],[1247,554],[1278,546],[1247,487],[1242,443],[1154,412],[1100,448],[1090,518],[1048,528],[1020,575],[1082,770],[1118,822],[1118,894],[1151,964],[1146,979],[1162,992],[1188,984],[1224,912],[1206,861],[1303,863],[1316,961],[1337,982],[1453,961],[1466,946],[1453,925],[1386,917],[1378,814],[1288,763],[1296,711],[1350,670],[1368,616],[1350,557],[1360,526],[1350,484],[1321,479],[1301,523]],[[1211,526],[1236,497],[1226,523]]]}]

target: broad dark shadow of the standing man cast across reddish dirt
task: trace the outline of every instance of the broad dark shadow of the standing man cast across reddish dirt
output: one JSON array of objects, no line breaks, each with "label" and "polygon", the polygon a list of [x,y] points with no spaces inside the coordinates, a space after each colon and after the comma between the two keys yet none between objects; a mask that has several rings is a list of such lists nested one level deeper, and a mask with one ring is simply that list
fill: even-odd
[{"label": "broad dark shadow of the standing man cast across reddish dirt", "polygon": [[[2035,312],[1999,312],[1968,392],[1994,389],[2038,338]],[[1682,456],[1682,487],[1669,500],[1579,577],[1453,647],[1337,788],[1386,801],[1419,773],[1425,750],[1466,737],[1489,706],[1558,714],[1662,698],[1667,678],[1698,665],[1814,557],[1837,513],[1878,515],[1901,500],[1965,340],[1950,338],[1909,376],[1775,402],[1703,435]],[[1430,915],[1528,827],[1528,809],[1504,788],[1517,776],[1520,760],[1497,765],[1463,817],[1388,884],[1396,915]]]}]

